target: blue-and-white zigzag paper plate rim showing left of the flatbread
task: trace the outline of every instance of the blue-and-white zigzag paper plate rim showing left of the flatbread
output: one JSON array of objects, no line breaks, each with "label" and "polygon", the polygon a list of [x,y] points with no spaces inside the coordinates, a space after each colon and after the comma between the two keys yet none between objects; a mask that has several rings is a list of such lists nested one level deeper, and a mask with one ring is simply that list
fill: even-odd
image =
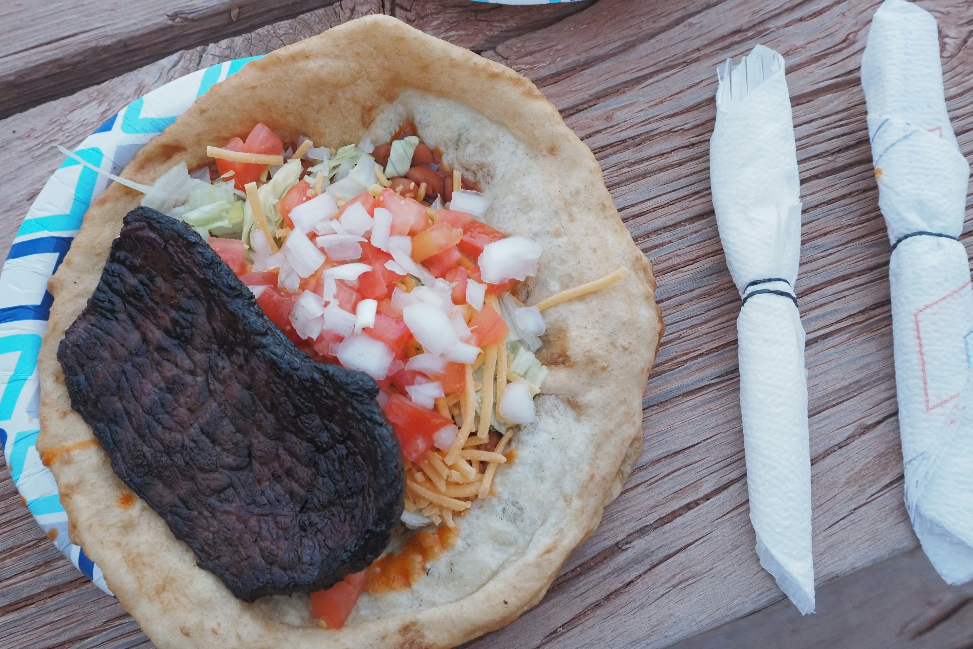
[{"label": "blue-and-white zigzag paper plate rim showing left of the flatbread", "polygon": [[[98,126],[75,153],[104,171],[117,173],[203,92],[239,71],[253,58],[213,65],[136,99]],[[60,266],[88,211],[109,181],[67,159],[30,206],[0,274],[0,448],[14,484],[54,546],[105,593],[101,569],[70,542],[67,515],[54,476],[35,445],[40,432],[37,353],[54,298],[48,279]],[[54,530],[54,531],[52,531]]]}]

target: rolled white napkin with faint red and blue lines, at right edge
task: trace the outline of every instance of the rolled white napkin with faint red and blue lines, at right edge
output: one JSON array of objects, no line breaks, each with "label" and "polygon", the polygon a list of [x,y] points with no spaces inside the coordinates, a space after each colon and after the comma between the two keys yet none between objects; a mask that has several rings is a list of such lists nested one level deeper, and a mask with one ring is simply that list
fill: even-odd
[{"label": "rolled white napkin with faint red and blue lines, at right edge", "polygon": [[973,291],[962,231],[969,165],[943,93],[936,20],[886,0],[861,64],[888,267],[906,507],[950,584],[973,578]]}]

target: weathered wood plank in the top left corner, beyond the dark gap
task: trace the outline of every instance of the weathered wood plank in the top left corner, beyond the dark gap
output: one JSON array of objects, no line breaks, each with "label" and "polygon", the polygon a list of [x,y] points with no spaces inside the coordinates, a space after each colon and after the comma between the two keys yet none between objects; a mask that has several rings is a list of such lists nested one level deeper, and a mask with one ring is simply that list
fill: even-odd
[{"label": "weathered wood plank in the top left corner, beyond the dark gap", "polygon": [[0,3],[0,118],[335,0]]}]

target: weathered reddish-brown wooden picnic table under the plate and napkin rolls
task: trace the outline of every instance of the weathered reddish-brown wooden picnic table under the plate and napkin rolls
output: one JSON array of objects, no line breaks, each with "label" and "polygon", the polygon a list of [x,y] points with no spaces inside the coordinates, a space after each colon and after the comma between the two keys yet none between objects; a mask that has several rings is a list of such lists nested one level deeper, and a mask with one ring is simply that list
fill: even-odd
[{"label": "weathered reddish-brown wooden picnic table under the plate and napkin rolls", "polygon": [[[858,71],[880,0],[590,0],[543,8],[342,0],[164,58],[238,32],[240,17],[249,30],[327,3],[152,0],[144,12],[130,0],[62,4],[54,22],[54,12],[37,3],[0,7],[5,24],[49,21],[26,36],[12,31],[9,41],[19,45],[0,50],[0,115],[84,89],[0,121],[3,253],[60,160],[54,142],[76,145],[121,106],[175,77],[367,13],[392,14],[523,73],[595,152],[622,218],[656,270],[666,318],[643,402],[645,448],[601,526],[544,600],[470,646],[663,647],[725,623],[679,646],[969,646],[973,589],[950,589],[935,577],[903,507],[889,246]],[[940,23],[948,105],[969,157],[973,7],[968,0],[919,4]],[[205,19],[179,13],[190,5]],[[105,7],[110,30],[78,26]],[[93,45],[88,33],[98,35]],[[758,42],[787,60],[804,199],[797,288],[808,333],[821,612],[803,620],[781,601],[754,553],[738,405],[739,298],[708,188],[716,65]],[[101,47],[113,53],[110,74],[125,74],[91,86],[105,73],[77,61],[102,60]],[[160,60],[133,69],[146,52]],[[17,76],[37,70],[46,72],[36,81]],[[54,551],[6,471],[0,646],[151,646],[116,602]]]}]

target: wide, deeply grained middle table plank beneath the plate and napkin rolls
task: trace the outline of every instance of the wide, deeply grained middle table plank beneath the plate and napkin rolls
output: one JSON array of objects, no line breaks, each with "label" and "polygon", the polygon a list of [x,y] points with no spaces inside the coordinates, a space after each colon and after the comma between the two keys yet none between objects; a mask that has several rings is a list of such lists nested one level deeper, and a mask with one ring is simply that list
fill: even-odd
[{"label": "wide, deeply grained middle table plank beneath the plate and napkin rolls", "polygon": [[[818,584],[916,547],[902,505],[888,242],[857,79],[867,25],[878,4],[600,0],[567,18],[552,15],[551,26],[534,24],[525,33],[516,20],[493,15],[464,22],[446,11],[457,7],[450,3],[442,3],[441,12],[403,0],[391,8],[427,30],[489,48],[485,55],[542,85],[568,125],[595,151],[623,219],[654,264],[667,321],[643,402],[645,450],[629,484],[606,509],[593,537],[565,563],[541,604],[470,646],[662,647],[782,597],[759,567],[747,520],[734,329],[739,299],[708,190],[715,66],[756,42],[779,49],[787,59],[798,138],[805,201],[798,292],[808,332]],[[949,106],[960,147],[969,155],[973,80],[964,71],[973,62],[968,45],[973,9],[964,0],[919,4],[944,25]],[[345,0],[328,19],[339,20],[342,11],[352,9],[378,11]],[[740,17],[746,17],[742,29]],[[477,31],[481,26],[485,30]],[[197,69],[204,56],[255,54],[252,43],[276,45],[286,37],[287,29],[275,28],[249,42],[171,56],[0,122],[0,144],[18,154],[0,161],[0,173],[12,180],[0,186],[0,198],[14,205],[11,213],[26,211],[57,160],[50,149],[41,149],[45,140],[74,144],[119,105]],[[65,114],[67,119],[60,117]],[[20,133],[11,132],[15,129]],[[18,167],[23,160],[32,163]],[[0,240],[9,240],[16,227],[0,221]],[[969,237],[963,240],[971,244]],[[0,512],[0,523],[4,516]],[[41,551],[24,544],[14,543],[10,552]],[[43,562],[25,559],[32,561]],[[23,570],[27,584],[33,577]],[[75,618],[84,617],[86,609],[71,607],[88,600],[70,597],[93,587],[71,586],[67,573],[64,579],[68,590],[30,606],[63,605]],[[821,590],[822,611],[830,592]],[[0,633],[13,628],[14,614],[0,609]],[[96,635],[75,632],[71,637]],[[118,637],[129,638],[126,632]],[[59,637],[53,631],[37,646],[56,646],[63,641]],[[91,646],[127,646],[113,643],[128,641],[112,636]]]}]

